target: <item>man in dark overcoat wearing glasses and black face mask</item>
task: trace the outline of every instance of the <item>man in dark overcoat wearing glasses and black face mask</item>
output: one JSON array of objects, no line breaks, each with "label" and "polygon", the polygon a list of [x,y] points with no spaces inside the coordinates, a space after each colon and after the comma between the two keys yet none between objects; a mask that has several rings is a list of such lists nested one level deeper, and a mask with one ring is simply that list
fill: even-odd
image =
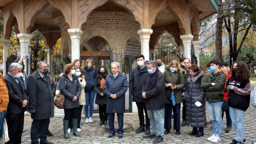
[{"label": "man in dark overcoat wearing glasses and black face mask", "polygon": [[38,144],[38,134],[40,144],[53,144],[46,140],[50,117],[54,116],[52,83],[47,73],[47,63],[39,61],[37,71],[31,74],[27,80],[28,101],[31,107],[31,118],[33,119],[30,133],[32,144]]}]

